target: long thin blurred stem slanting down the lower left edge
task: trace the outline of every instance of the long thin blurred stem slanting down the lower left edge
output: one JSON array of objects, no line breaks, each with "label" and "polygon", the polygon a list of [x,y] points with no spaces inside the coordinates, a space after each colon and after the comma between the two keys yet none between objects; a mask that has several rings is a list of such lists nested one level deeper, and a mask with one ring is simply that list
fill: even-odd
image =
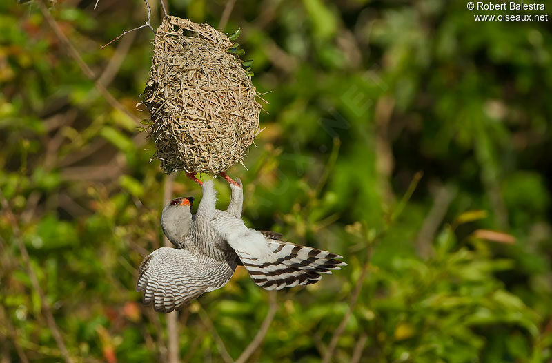
[{"label": "long thin blurred stem slanting down the lower left edge", "polygon": [[46,297],[44,296],[44,292],[42,291],[41,285],[39,283],[39,279],[37,278],[36,273],[34,273],[34,270],[30,265],[29,253],[27,251],[27,247],[25,247],[25,244],[21,239],[21,231],[19,231],[19,227],[17,225],[17,218],[15,218],[12,212],[12,209],[8,203],[8,200],[6,199],[6,197],[4,196],[1,190],[0,190],[0,203],[3,209],[6,211],[6,215],[8,216],[8,219],[10,220],[10,224],[12,225],[13,236],[15,241],[17,242],[17,246],[19,247],[21,256],[23,257],[23,262],[25,263],[25,266],[28,270],[32,287],[34,291],[36,291],[39,295],[42,312],[44,314],[44,317],[46,318],[46,323],[48,324],[48,328],[50,328],[50,331],[52,332],[52,336],[54,337],[54,340],[56,341],[57,346],[59,348],[59,351],[63,356],[63,360],[65,360],[66,363],[72,363],[73,362],[72,357],[70,357],[67,347],[65,345],[65,342],[63,342],[63,338],[61,337],[61,333],[59,332],[59,329],[55,322],[54,315],[52,314],[52,310],[50,309],[50,305],[48,305],[48,302],[46,301]]}]

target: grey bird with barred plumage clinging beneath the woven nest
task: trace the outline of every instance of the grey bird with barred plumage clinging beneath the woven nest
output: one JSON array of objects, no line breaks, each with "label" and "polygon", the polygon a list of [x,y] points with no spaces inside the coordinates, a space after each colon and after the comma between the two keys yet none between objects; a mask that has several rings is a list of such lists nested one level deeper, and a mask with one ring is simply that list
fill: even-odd
[{"label": "grey bird with barred plumage clinging beneath the woven nest", "polygon": [[256,231],[241,219],[243,189],[230,184],[232,198],[226,211],[215,208],[213,180],[202,185],[197,214],[193,198],[176,198],[163,209],[161,228],[177,248],[156,249],[139,267],[137,291],[155,311],[179,310],[202,293],[223,287],[237,265],[244,265],[253,282],[266,290],[313,284],[321,273],[346,263],[335,253],[282,241],[272,231]]}]

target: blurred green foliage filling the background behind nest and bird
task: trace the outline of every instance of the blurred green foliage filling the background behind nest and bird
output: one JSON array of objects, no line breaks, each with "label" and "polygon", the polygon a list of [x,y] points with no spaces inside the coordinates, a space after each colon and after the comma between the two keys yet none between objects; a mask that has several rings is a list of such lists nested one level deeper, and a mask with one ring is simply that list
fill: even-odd
[{"label": "blurred green foliage filling the background behind nest and bird", "polygon": [[[57,1],[50,12],[117,101],[147,118],[135,104],[151,31],[100,48],[141,25],[144,3],[94,4]],[[169,1],[171,14],[214,26],[225,5]],[[247,0],[224,31],[237,28],[267,101],[248,170],[230,170],[244,180],[244,220],[349,264],[277,293],[250,361],[318,362],[369,262],[333,361],[356,351],[361,362],[549,362],[549,23],[475,22],[461,1]],[[135,280],[162,244],[166,177],[138,127],[36,3],[0,2],[0,187],[21,229],[0,214],[2,362],[19,362],[18,349],[61,360],[16,238],[77,362],[165,360],[165,316],[141,306]],[[173,189],[200,196],[182,175]],[[217,189],[224,207],[229,188]],[[237,358],[266,311],[267,293],[240,267],[179,314],[180,356],[222,361],[212,321]]]}]

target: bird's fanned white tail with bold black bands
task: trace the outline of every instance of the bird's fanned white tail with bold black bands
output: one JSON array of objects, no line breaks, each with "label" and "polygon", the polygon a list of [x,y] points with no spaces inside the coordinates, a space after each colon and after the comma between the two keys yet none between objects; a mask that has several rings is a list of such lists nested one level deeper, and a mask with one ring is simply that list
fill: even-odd
[{"label": "bird's fanned white tail with bold black bands", "polygon": [[267,238],[229,214],[217,213],[213,227],[237,253],[255,284],[266,290],[313,284],[322,278],[320,273],[346,265],[335,253]]}]

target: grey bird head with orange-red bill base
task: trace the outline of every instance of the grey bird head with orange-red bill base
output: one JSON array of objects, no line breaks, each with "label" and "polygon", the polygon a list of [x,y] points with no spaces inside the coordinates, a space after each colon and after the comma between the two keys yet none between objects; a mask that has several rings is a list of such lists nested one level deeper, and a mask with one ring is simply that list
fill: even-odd
[{"label": "grey bird head with orange-red bill base", "polygon": [[171,200],[161,212],[161,228],[168,240],[180,247],[192,225],[193,197],[179,197]]}]

